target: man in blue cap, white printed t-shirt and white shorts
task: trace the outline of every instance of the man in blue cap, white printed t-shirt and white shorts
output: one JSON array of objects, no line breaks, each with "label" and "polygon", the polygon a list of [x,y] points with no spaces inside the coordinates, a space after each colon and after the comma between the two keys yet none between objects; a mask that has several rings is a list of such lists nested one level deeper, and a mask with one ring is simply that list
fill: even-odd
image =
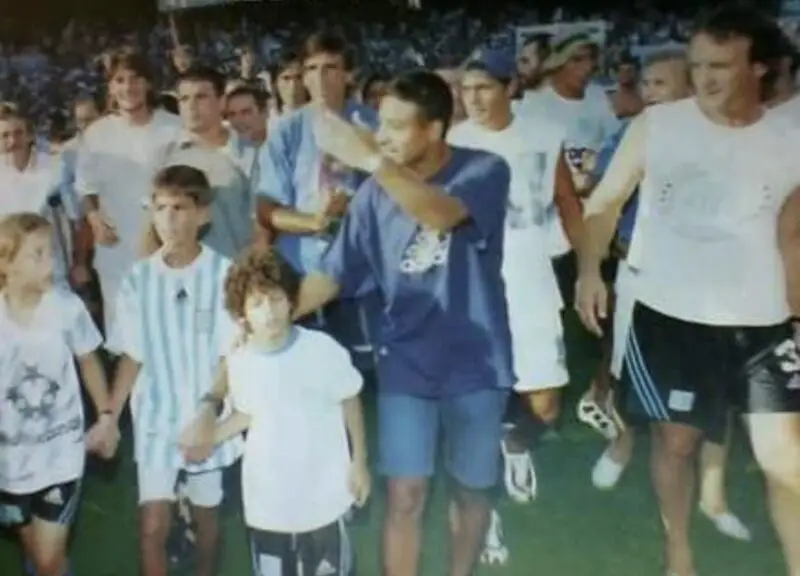
[{"label": "man in blue cap, white printed t-shirt and white shorts", "polygon": [[[561,326],[561,296],[547,244],[546,207],[555,204],[565,228],[575,237],[583,227],[580,204],[563,154],[564,131],[546,119],[536,122],[511,111],[514,59],[500,50],[483,50],[467,62],[462,94],[467,120],[448,132],[448,143],[485,150],[511,168],[506,214],[503,279],[518,396],[509,414],[512,427],[503,439],[504,481],[517,502],[536,496],[536,474],[527,443],[531,414],[552,424],[559,413],[560,389],[569,381]],[[536,428],[535,426],[533,428]],[[541,428],[541,426],[539,426]],[[503,562],[493,522],[482,556]]]}]

